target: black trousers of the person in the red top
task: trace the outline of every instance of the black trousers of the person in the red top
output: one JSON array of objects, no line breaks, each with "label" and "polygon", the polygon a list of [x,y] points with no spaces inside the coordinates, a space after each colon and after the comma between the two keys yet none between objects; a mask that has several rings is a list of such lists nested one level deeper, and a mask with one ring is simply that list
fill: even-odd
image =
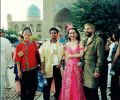
[{"label": "black trousers of the person in the red top", "polygon": [[37,69],[23,72],[21,82],[21,100],[34,100],[37,89]]}]

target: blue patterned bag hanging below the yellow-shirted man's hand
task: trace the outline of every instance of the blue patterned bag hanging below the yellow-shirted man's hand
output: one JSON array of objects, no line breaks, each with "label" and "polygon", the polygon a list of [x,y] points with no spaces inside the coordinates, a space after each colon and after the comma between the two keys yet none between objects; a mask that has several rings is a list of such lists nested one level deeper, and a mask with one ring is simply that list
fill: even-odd
[{"label": "blue patterned bag hanging below the yellow-shirted man's hand", "polygon": [[37,78],[38,78],[37,91],[43,92],[44,86],[47,85],[47,79],[40,71],[37,72]]}]

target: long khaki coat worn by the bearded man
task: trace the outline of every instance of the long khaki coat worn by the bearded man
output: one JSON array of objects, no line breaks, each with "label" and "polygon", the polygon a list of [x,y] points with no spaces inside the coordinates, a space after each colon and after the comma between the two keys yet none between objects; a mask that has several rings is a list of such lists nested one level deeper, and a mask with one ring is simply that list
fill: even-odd
[{"label": "long khaki coat worn by the bearded man", "polygon": [[87,43],[88,39],[85,39],[85,52],[84,52],[84,86],[88,88],[97,88],[99,85],[99,78],[94,78],[95,72],[101,73],[104,61],[104,43],[103,40],[94,35],[92,39]]}]

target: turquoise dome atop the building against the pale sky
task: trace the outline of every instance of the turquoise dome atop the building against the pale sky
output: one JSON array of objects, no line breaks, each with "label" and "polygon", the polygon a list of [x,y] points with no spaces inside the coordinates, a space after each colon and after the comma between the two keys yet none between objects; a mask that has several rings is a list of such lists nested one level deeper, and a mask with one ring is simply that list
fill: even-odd
[{"label": "turquoise dome atop the building against the pale sky", "polygon": [[28,12],[27,12],[27,16],[38,16],[38,17],[40,17],[40,9],[36,6],[36,5],[34,5],[34,4],[32,4],[29,8],[28,8]]}]

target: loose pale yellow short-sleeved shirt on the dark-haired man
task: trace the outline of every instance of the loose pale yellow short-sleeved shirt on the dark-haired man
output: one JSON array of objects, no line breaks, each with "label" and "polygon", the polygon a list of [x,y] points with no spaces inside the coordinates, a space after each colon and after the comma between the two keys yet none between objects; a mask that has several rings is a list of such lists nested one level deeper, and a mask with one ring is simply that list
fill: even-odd
[{"label": "loose pale yellow short-sleeved shirt on the dark-haired man", "polygon": [[45,62],[46,77],[53,77],[53,65],[60,63],[64,47],[60,42],[51,43],[50,41],[45,42],[39,49],[41,54],[41,62]]}]

